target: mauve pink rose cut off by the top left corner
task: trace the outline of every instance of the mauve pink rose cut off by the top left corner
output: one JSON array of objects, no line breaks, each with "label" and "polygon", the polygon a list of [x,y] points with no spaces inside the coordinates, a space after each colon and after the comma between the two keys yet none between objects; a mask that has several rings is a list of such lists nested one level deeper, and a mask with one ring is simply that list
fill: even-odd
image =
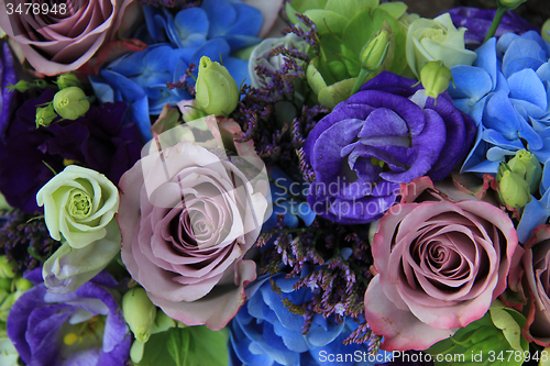
[{"label": "mauve pink rose cut off by the top left corner", "polygon": [[53,76],[76,70],[111,41],[132,1],[35,2],[41,8],[28,12],[29,1],[0,0],[0,27],[18,42],[36,71]]}]

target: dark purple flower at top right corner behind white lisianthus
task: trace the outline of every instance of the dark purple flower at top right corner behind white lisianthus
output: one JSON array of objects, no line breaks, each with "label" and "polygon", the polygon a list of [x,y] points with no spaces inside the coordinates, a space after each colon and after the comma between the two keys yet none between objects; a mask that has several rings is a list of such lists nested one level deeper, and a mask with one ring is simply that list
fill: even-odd
[{"label": "dark purple flower at top right corner behind white lisianthus", "polygon": [[[496,9],[477,9],[469,7],[459,7],[450,9],[446,12],[451,14],[452,22],[457,27],[464,26],[468,29],[464,41],[466,45],[475,48],[485,38],[493,18],[495,18]],[[513,32],[524,34],[528,31],[537,31],[540,33],[540,27],[530,24],[521,16],[516,15],[512,11],[506,11],[501,25],[496,30],[495,36],[498,38],[504,33]]]}]

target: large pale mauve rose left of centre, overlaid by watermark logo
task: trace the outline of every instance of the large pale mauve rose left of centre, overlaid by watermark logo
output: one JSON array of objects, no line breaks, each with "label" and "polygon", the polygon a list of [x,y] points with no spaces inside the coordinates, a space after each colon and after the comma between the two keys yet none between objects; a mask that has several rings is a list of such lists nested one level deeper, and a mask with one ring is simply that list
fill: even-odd
[{"label": "large pale mauve rose left of centre, overlaid by watermark logo", "polygon": [[[205,140],[200,127],[155,137],[151,154],[120,180],[118,220],[122,260],[151,300],[187,325],[220,330],[256,278],[246,254],[268,213],[270,193],[257,156],[224,156],[222,141],[240,132],[238,124],[224,121],[218,131],[216,120],[208,121],[212,138]],[[200,144],[190,131],[198,131]],[[165,147],[173,138],[187,141]],[[249,147],[235,146],[241,154],[253,152]]]}]

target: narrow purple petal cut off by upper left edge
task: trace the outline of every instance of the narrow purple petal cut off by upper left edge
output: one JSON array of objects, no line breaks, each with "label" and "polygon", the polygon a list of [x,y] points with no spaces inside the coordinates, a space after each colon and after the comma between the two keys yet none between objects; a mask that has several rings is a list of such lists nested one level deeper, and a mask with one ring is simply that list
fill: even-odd
[{"label": "narrow purple petal cut off by upper left edge", "polygon": [[13,64],[13,55],[8,43],[2,44],[2,56],[0,57],[0,138],[3,137],[6,127],[10,121],[11,113],[16,103],[16,92],[10,92],[6,87],[15,85],[18,76]]}]

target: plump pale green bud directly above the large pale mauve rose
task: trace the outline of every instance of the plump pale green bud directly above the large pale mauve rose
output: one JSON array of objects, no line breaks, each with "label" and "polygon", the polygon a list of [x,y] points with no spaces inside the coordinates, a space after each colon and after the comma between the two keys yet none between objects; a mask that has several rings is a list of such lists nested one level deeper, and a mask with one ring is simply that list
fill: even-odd
[{"label": "plump pale green bud directly above the large pale mauve rose", "polygon": [[202,56],[199,62],[196,100],[207,114],[227,115],[237,108],[239,89],[226,67]]}]

